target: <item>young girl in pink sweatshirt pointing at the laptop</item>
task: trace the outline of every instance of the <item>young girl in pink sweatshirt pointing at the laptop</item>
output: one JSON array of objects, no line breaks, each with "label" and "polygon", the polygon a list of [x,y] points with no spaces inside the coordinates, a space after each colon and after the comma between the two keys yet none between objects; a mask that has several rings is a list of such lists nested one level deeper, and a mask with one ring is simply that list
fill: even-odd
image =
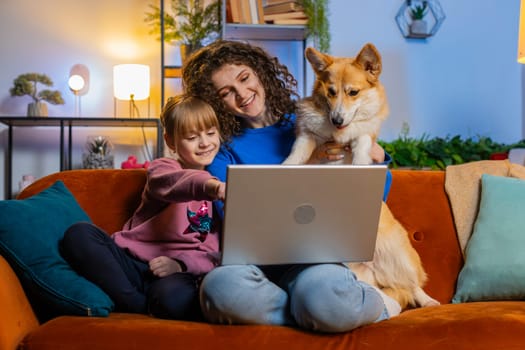
[{"label": "young girl in pink sweatshirt pointing at the laptop", "polygon": [[61,249],[117,311],[198,319],[200,281],[219,257],[211,201],[224,199],[225,184],[204,170],[219,150],[219,125],[207,103],[183,95],[168,100],[161,121],[175,157],[151,162],[142,202],[122,231],[109,236],[77,223]]}]

